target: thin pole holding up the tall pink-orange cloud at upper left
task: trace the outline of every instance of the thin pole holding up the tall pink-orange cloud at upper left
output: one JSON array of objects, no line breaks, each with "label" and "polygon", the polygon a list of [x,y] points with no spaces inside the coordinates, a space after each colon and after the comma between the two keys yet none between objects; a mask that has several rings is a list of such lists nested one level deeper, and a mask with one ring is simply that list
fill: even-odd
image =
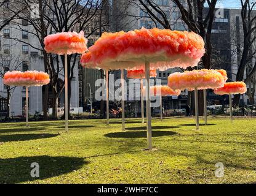
[{"label": "thin pole holding up the tall pink-orange cloud at upper left", "polygon": [[65,130],[68,132],[68,54],[65,52]]}]

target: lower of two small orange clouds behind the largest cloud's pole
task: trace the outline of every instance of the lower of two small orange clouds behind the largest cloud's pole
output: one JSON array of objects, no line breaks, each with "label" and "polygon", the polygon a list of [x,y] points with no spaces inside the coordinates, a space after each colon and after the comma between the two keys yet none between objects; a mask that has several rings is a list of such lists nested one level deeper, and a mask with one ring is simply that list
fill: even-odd
[{"label": "lower of two small orange clouds behind the largest cloud's pole", "polygon": [[[146,87],[143,87],[143,94],[145,94]],[[150,86],[150,95],[151,96],[178,96],[180,94],[180,89],[173,90],[169,86]]]}]

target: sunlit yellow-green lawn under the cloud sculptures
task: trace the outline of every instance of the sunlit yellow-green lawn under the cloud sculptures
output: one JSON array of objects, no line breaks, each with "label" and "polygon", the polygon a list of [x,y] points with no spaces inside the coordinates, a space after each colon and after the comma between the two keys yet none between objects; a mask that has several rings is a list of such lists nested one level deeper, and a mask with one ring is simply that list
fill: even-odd
[{"label": "sunlit yellow-green lawn under the cloud sculptures", "polygon": [[0,183],[256,183],[255,123],[212,117],[195,130],[193,118],[153,119],[153,151],[140,119],[125,132],[120,119],[70,121],[68,133],[63,121],[0,124]]}]

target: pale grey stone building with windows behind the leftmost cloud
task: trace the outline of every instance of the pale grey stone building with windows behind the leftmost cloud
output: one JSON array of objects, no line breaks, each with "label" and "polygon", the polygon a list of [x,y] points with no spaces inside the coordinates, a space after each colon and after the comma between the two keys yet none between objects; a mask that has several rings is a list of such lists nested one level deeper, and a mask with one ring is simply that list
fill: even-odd
[{"label": "pale grey stone building with windows behind the leftmost cloud", "polygon": [[[18,25],[17,25],[18,24]],[[20,26],[21,28],[19,28]],[[23,29],[23,30],[21,30]],[[5,26],[0,32],[0,61],[2,70],[38,70],[44,71],[44,59],[38,37],[30,34],[33,32],[31,26],[28,26],[25,20],[15,20]],[[16,59],[16,62],[14,62]],[[18,62],[17,62],[18,61]],[[13,63],[19,66],[14,67]],[[4,66],[6,65],[6,66]],[[62,69],[62,64],[60,65]],[[15,68],[15,69],[14,69]],[[60,80],[64,80],[63,71],[60,72]],[[74,77],[71,81],[71,107],[79,107],[79,78],[78,65],[74,68]],[[29,88],[29,112],[33,115],[36,111],[42,112],[42,87],[31,86]],[[51,94],[49,95],[49,99]],[[0,78],[0,115],[6,115],[7,111],[7,91],[6,86]],[[49,104],[50,104],[49,100]],[[60,107],[64,106],[63,93],[60,96]],[[50,107],[50,105],[49,105]],[[10,98],[10,114],[11,116],[24,115],[25,110],[25,87],[17,86],[11,94]]]}]

